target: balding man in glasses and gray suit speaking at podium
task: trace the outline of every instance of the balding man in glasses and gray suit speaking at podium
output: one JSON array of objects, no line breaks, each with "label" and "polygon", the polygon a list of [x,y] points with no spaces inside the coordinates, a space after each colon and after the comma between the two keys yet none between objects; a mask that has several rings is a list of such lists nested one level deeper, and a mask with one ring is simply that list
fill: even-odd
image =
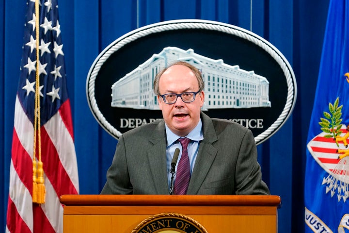
[{"label": "balding man in glasses and gray suit speaking at podium", "polygon": [[[203,90],[200,71],[186,62],[159,72],[154,92],[163,120],[120,136],[101,194],[169,194],[173,183],[174,194],[270,194],[262,181],[252,132],[204,114]],[[182,147],[178,140],[184,137],[189,138],[189,145]],[[179,153],[173,177],[171,161],[176,148],[183,154]],[[187,158],[183,166],[187,168],[179,168],[182,157],[182,161]],[[179,181],[182,169],[187,169],[184,180],[189,184]]]}]

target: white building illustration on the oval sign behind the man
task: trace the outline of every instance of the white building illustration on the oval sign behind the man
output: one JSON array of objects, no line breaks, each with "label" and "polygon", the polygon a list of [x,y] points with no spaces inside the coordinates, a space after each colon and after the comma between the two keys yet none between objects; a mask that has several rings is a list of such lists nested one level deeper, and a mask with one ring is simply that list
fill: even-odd
[{"label": "white building illustration on the oval sign behind the man", "polygon": [[157,96],[153,92],[156,74],[175,61],[186,61],[197,67],[205,83],[203,111],[223,108],[271,107],[269,81],[254,71],[240,69],[238,65],[224,64],[177,47],[166,47],[153,54],[143,64],[129,72],[111,86],[111,106],[159,110]]}]

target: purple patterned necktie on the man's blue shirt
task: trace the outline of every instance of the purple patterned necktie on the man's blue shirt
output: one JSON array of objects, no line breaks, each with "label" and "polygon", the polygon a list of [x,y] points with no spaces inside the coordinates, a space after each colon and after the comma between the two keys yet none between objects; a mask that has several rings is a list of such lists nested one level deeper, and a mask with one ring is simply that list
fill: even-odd
[{"label": "purple patterned necktie on the man's blue shirt", "polygon": [[174,194],[186,195],[190,181],[190,162],[188,156],[188,144],[190,139],[184,137],[179,138],[178,141],[182,145],[182,155],[177,166],[176,179],[174,182]]}]

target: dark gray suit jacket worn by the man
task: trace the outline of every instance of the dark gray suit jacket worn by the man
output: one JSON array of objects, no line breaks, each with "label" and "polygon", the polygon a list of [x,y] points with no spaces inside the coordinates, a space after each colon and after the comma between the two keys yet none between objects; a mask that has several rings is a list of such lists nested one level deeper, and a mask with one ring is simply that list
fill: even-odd
[{"label": "dark gray suit jacket worn by the man", "polygon": [[[204,139],[188,195],[265,195],[252,132],[238,123],[201,113]],[[158,120],[120,136],[101,194],[168,194],[165,122]]]}]

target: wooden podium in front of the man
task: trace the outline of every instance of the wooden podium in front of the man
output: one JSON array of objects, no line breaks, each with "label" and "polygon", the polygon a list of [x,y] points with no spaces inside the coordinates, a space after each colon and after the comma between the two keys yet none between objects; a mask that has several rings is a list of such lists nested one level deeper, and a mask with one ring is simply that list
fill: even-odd
[{"label": "wooden podium in front of the man", "polygon": [[[180,219],[188,217],[208,233],[277,233],[281,199],[234,195],[63,195],[61,203],[64,233],[133,233],[159,216],[179,219],[177,227],[183,229],[185,224]],[[139,233],[185,232],[159,230],[157,224],[149,224],[147,230]]]}]

